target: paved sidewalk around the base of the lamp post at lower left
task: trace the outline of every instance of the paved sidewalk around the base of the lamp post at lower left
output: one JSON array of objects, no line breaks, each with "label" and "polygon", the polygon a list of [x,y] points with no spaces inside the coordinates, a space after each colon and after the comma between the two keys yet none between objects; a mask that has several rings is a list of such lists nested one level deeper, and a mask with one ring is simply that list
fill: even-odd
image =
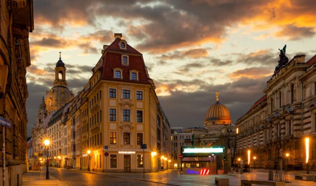
[{"label": "paved sidewalk around the base of the lamp post at lower left", "polygon": [[65,186],[66,183],[56,180],[50,175],[46,180],[46,171],[28,171],[22,176],[22,186]]}]

